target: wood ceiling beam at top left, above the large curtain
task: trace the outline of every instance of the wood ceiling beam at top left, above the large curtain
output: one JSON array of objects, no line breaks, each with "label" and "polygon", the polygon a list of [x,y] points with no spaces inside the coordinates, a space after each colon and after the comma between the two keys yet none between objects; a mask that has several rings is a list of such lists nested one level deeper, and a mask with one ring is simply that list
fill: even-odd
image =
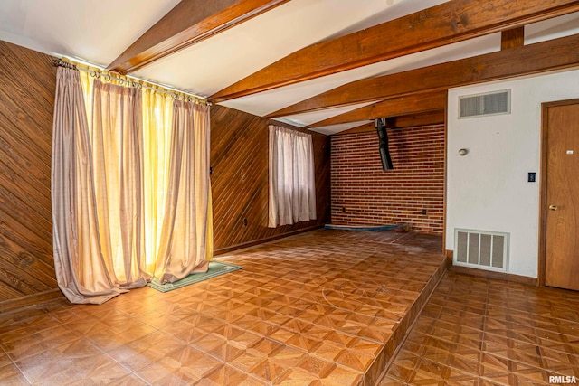
[{"label": "wood ceiling beam at top left, above the large curtain", "polygon": [[110,63],[107,70],[136,71],[288,1],[182,0]]}]

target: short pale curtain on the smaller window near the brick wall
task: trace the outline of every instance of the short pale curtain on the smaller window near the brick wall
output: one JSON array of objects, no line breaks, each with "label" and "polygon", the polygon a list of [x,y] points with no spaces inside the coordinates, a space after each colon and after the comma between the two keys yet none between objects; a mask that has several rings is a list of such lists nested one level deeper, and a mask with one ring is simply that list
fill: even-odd
[{"label": "short pale curtain on the smaller window near the brick wall", "polygon": [[316,220],[311,135],[273,125],[269,129],[269,227]]}]

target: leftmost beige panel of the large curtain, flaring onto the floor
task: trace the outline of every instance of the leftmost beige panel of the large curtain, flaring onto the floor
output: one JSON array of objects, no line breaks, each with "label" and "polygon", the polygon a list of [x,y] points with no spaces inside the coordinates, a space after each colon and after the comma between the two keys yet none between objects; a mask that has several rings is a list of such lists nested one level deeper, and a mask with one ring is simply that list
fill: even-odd
[{"label": "leftmost beige panel of the large curtain, flaring onto the floor", "polygon": [[100,252],[92,149],[79,72],[59,67],[52,128],[54,268],[72,303],[100,304],[123,292]]}]

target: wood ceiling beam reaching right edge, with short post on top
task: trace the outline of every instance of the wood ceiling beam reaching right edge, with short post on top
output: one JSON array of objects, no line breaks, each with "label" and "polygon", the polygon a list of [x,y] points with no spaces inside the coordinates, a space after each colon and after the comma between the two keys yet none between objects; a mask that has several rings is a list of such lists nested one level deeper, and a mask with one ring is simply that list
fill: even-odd
[{"label": "wood ceiling beam reaching right edge, with short post on top", "polygon": [[356,80],[288,108],[282,108],[270,114],[268,118],[579,66],[577,47],[579,34],[574,34],[460,61]]}]

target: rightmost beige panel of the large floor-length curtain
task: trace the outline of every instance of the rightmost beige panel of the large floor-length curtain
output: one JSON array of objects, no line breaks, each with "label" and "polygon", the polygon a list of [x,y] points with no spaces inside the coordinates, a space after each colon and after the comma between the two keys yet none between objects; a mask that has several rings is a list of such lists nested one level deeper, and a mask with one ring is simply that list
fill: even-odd
[{"label": "rightmost beige panel of the large floor-length curtain", "polygon": [[209,108],[174,101],[165,219],[155,276],[162,282],[205,272],[213,256]]}]

